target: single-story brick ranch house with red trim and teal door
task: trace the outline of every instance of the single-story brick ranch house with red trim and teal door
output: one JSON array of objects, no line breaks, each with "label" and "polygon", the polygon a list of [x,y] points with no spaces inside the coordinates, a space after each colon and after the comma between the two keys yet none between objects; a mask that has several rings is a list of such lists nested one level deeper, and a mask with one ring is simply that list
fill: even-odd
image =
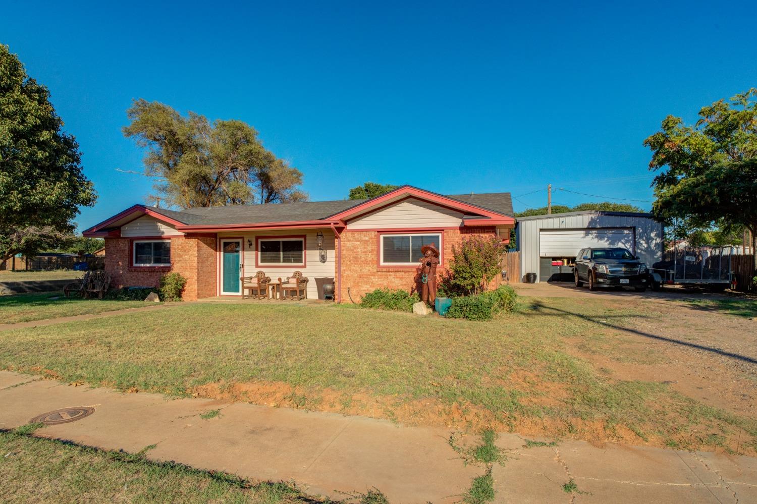
[{"label": "single-story brick ranch house with red trim and teal door", "polygon": [[375,288],[413,288],[420,247],[441,252],[440,273],[466,235],[506,243],[515,226],[510,194],[443,196],[409,185],[369,200],[188,208],[134,205],[87,229],[105,239],[111,285],[157,286],[166,272],[187,278],[183,297],[241,296],[241,276],[309,278],[307,297],[335,283],[349,302]]}]

